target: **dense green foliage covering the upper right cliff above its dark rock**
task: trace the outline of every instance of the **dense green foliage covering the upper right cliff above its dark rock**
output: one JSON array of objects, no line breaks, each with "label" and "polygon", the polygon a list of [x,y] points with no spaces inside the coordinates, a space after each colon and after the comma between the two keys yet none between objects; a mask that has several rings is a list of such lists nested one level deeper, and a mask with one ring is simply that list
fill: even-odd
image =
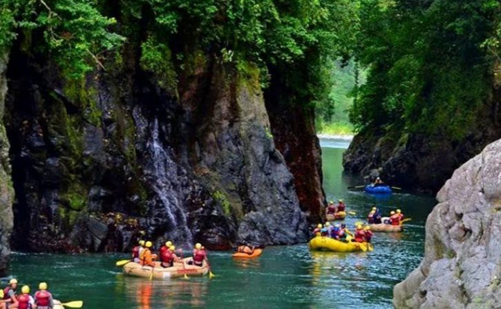
[{"label": "dense green foliage covering the upper right cliff above its dark rock", "polygon": [[396,124],[406,132],[469,132],[493,85],[498,1],[361,1],[357,130]]}]

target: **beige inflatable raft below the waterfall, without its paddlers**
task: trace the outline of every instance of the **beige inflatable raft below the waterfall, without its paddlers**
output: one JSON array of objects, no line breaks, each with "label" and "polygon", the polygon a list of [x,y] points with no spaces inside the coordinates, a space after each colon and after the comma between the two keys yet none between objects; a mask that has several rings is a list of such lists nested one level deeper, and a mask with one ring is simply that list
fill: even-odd
[{"label": "beige inflatable raft below the waterfall, without its paddlers", "polygon": [[202,267],[189,265],[188,261],[192,261],[191,257],[182,259],[180,262],[174,263],[174,266],[163,268],[160,262],[155,262],[155,268],[151,266],[142,266],[140,263],[126,263],[124,265],[124,274],[133,277],[150,278],[153,272],[153,279],[171,279],[179,278],[187,275],[188,277],[201,277],[207,275],[209,266],[204,261]]}]

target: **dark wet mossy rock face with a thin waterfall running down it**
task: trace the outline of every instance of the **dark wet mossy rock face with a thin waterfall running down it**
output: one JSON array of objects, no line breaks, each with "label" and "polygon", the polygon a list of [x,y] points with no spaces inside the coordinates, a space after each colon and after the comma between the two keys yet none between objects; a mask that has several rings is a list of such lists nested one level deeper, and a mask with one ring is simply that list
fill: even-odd
[{"label": "dark wet mossy rock face with a thin waterfall running down it", "polygon": [[5,122],[15,248],[120,251],[145,237],[227,249],[308,238],[257,70],[243,78],[208,57],[173,95],[137,55],[75,84],[50,61],[13,54]]}]

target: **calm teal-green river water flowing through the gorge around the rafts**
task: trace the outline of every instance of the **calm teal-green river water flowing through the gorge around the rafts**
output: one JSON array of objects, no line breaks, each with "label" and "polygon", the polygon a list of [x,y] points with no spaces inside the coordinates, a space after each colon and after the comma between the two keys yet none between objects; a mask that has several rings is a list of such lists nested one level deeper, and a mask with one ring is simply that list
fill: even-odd
[{"label": "calm teal-green river water flowing through the gorge around the rafts", "polygon": [[[343,175],[346,142],[323,141],[324,188],[328,199],[346,200],[360,221],[372,203],[384,211],[401,208],[412,217],[401,234],[377,234],[374,252],[315,253],[307,244],[270,247],[258,259],[236,261],[231,252],[209,252],[216,278],[148,281],[124,277],[115,261],[125,255],[15,253],[12,277],[35,288],[41,280],[62,301],[84,308],[391,308],[393,286],[422,259],[424,223],[432,197],[397,194],[376,199],[349,192],[360,181]],[[3,282],[8,278],[3,278]]]}]

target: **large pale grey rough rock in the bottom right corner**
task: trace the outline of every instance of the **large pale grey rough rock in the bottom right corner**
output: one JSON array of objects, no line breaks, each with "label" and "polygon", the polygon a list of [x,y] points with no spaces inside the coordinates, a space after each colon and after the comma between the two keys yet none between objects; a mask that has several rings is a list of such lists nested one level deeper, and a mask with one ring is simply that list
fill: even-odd
[{"label": "large pale grey rough rock in the bottom right corner", "polygon": [[500,308],[501,140],[459,169],[426,221],[425,257],[396,308]]}]

